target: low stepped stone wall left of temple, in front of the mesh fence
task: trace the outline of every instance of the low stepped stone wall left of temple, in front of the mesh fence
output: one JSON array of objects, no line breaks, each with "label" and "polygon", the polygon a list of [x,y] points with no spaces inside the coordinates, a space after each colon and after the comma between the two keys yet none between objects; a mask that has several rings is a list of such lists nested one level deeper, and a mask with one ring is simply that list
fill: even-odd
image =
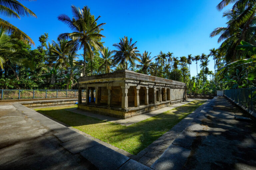
[{"label": "low stepped stone wall left of temple, in front of the mesh fence", "polygon": [[57,105],[68,105],[75,104],[78,102],[78,99],[54,99],[54,100],[36,100],[36,101],[21,101],[18,102],[23,106],[32,108],[32,107],[44,107],[44,106],[57,106]]}]

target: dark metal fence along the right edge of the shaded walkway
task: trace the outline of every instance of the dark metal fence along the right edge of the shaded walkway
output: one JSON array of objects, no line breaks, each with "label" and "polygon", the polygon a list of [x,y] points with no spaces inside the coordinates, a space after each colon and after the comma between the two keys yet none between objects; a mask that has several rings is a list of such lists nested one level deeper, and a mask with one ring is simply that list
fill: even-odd
[{"label": "dark metal fence along the right edge of the shaded walkway", "polygon": [[224,94],[248,108],[248,111],[256,111],[256,88],[229,89],[224,90]]}]

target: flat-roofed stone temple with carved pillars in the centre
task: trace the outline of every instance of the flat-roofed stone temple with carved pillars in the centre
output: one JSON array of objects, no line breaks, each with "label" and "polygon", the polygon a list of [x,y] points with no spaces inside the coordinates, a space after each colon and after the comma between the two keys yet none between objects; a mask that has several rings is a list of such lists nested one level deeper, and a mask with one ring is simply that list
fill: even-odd
[{"label": "flat-roofed stone temple with carved pillars in the centre", "polygon": [[[122,119],[159,109],[186,98],[185,83],[130,70],[80,77],[78,83],[79,109]],[[86,91],[85,103],[82,103],[82,90]]]}]

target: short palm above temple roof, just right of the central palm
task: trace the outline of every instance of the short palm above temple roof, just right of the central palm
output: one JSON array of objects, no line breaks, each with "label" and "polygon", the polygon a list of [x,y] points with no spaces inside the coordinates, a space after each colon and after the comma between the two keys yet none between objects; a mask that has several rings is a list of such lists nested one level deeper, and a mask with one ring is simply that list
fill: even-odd
[{"label": "short palm above temple roof, just right of the central palm", "polygon": [[148,51],[144,51],[142,56],[140,57],[141,61],[140,64],[137,64],[137,67],[140,69],[140,72],[142,72],[143,74],[148,74],[148,70],[150,68],[150,64],[152,59],[154,58],[150,58],[150,53],[148,53]]}]

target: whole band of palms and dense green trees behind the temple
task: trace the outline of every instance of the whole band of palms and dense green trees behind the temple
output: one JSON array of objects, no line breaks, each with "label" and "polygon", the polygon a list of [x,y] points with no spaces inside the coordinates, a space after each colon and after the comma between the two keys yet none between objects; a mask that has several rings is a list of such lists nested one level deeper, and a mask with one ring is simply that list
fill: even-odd
[{"label": "whole band of palms and dense green trees behind the temple", "polygon": [[[221,11],[230,2],[222,0],[217,9]],[[77,78],[81,75],[129,69],[185,82],[189,93],[255,87],[256,2],[232,2],[232,9],[223,13],[228,20],[227,27],[216,28],[210,34],[210,37],[219,36],[220,47],[196,56],[177,57],[168,51],[151,56],[150,51],[138,51],[136,42],[126,36],[113,44],[115,50],[110,50],[101,41],[105,23],[98,24],[100,17],[95,18],[87,6],[82,9],[71,6],[72,18],[59,15],[58,20],[71,31],[60,34],[56,41],[49,41],[47,33],[41,35],[40,45],[33,50],[29,37],[1,27],[0,86],[2,89],[77,89]],[[210,59],[214,61],[214,71],[208,67]],[[190,76],[192,62],[197,66],[197,76],[193,77]]]}]

